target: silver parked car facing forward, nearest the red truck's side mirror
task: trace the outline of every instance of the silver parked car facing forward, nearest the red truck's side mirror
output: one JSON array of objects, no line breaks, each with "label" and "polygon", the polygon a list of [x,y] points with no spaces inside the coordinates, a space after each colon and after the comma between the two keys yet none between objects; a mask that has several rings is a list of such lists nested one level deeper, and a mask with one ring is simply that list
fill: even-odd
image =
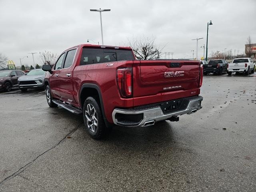
[{"label": "silver parked car facing forward, nearest the red truck's side mirror", "polygon": [[44,88],[44,77],[46,72],[42,69],[33,69],[26,75],[18,79],[19,88],[21,91],[26,91],[28,88]]}]

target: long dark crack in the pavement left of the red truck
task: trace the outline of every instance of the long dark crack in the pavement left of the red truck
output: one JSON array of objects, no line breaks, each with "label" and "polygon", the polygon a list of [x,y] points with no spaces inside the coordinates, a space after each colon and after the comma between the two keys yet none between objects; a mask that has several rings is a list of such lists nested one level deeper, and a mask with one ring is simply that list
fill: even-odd
[{"label": "long dark crack in the pavement left of the red truck", "polygon": [[4,180],[2,180],[0,182],[0,185],[8,180],[8,179],[12,179],[14,177],[16,177],[17,175],[19,175],[20,173],[22,173],[24,170],[26,170],[26,168],[28,168],[34,161],[36,161],[40,156],[44,155],[46,152],[52,150],[53,148],[56,148],[56,146],[58,146],[64,139],[67,138],[67,136],[72,135],[76,130],[78,130],[78,128],[81,126],[81,124],[79,124],[76,128],[72,129],[66,136],[64,136],[64,138],[62,138],[55,146],[53,146],[52,148],[46,150],[45,152],[43,152],[42,154],[38,155],[36,158],[34,158],[34,160],[32,160],[31,162],[27,163],[25,166],[23,166],[22,168],[20,168],[18,171],[14,172],[13,174],[11,174],[10,176],[6,177]]}]

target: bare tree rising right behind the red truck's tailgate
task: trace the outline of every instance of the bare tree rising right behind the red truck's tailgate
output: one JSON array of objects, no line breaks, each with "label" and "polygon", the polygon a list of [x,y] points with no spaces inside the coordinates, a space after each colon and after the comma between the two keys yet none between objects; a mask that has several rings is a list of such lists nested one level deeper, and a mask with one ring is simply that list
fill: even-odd
[{"label": "bare tree rising right behind the red truck's tailgate", "polygon": [[136,58],[140,60],[158,59],[162,55],[164,48],[156,45],[156,38],[153,36],[143,36],[143,38],[133,37],[132,40],[128,38],[128,43],[134,51]]}]

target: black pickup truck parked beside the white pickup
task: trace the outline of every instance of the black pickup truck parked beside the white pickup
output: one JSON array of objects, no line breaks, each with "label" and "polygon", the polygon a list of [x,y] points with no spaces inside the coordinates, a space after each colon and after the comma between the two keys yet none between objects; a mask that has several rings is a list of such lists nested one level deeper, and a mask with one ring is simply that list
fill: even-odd
[{"label": "black pickup truck parked beside the white pickup", "polygon": [[207,75],[208,73],[221,75],[223,72],[227,71],[228,62],[224,59],[210,60],[208,64],[203,65],[203,68],[204,68],[204,75]]}]

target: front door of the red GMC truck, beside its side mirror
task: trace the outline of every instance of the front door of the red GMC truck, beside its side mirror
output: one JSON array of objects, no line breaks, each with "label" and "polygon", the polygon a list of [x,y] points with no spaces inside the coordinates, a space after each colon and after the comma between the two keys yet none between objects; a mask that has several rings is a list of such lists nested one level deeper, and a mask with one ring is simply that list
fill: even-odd
[{"label": "front door of the red GMC truck, beside its side mirror", "polygon": [[50,76],[50,89],[52,92],[52,96],[56,98],[60,98],[60,89],[59,89],[59,75],[60,70],[62,69],[62,64],[64,63],[64,56],[63,53],[56,64],[54,65],[54,69],[52,70],[52,74]]}]

